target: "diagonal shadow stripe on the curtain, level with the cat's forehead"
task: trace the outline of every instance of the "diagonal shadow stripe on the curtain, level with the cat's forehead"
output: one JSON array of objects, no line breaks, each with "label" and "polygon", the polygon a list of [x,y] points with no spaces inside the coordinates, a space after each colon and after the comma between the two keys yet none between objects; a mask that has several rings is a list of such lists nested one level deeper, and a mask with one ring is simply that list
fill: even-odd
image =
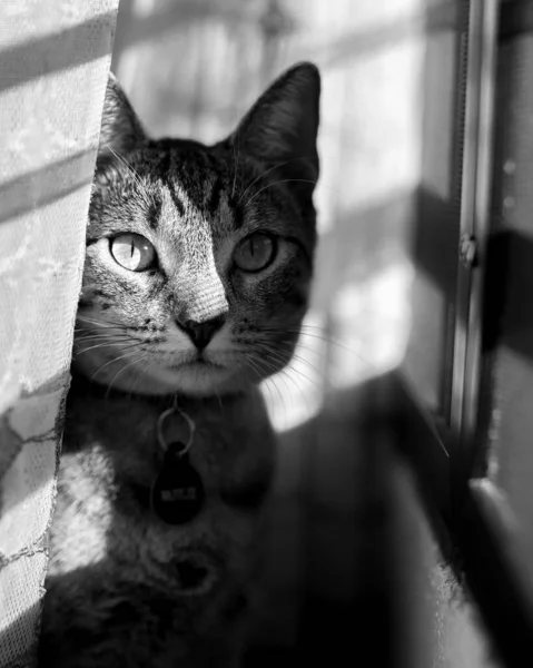
[{"label": "diagonal shadow stripe on the curtain, level with the cat's forehead", "polygon": [[92,181],[95,149],[86,149],[52,165],[0,184],[0,223],[57,202]]}]

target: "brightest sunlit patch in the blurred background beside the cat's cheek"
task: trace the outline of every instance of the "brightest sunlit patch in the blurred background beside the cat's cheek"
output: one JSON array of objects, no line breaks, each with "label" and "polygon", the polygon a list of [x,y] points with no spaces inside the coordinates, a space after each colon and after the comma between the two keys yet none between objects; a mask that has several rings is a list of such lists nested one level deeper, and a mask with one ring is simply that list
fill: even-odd
[{"label": "brightest sunlit patch in the blurred background beside the cat's cheek", "polygon": [[332,390],[358,385],[397,366],[411,327],[414,269],[396,262],[332,298],[329,316],[310,311],[290,364],[261,390],[276,431],[314,418]]}]

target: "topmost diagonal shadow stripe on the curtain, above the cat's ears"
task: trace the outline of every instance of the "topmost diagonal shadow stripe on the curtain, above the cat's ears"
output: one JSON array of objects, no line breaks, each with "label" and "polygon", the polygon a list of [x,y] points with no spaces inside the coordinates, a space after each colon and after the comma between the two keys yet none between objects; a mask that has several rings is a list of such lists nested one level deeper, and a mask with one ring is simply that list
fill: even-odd
[{"label": "topmost diagonal shadow stripe on the curtain, above the cat's ears", "polygon": [[[116,11],[0,51],[0,92],[111,52]],[[0,40],[1,42],[1,40]]]}]

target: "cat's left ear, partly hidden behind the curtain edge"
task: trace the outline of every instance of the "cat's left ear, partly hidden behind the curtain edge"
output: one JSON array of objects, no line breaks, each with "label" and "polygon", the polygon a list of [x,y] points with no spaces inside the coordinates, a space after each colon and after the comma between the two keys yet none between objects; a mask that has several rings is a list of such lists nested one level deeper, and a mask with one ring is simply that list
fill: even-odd
[{"label": "cat's left ear, partly hidden behind the curtain edge", "polygon": [[100,127],[100,144],[98,159],[112,159],[113,156],[122,157],[146,141],[142,130],[126,94],[120,87],[115,75],[109,72],[106,89],[106,99]]}]

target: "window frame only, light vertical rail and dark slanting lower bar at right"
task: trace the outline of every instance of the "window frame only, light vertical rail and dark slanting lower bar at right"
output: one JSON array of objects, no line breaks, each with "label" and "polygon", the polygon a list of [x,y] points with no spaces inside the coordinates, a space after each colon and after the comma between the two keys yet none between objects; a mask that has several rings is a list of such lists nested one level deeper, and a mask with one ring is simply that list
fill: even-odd
[{"label": "window frame only, light vertical rail and dark slanting lower bar at right", "polygon": [[[513,24],[513,4],[519,3],[464,3],[465,42],[463,36],[457,40],[465,95],[464,109],[458,109],[464,125],[455,139],[462,143],[462,179],[448,405],[440,414],[428,410],[416,382],[402,371],[391,382],[397,446],[413,468],[444,559],[473,597],[503,664],[522,666],[531,651],[533,600],[506,542],[504,509],[488,475],[486,416],[494,401],[494,361],[485,345],[493,325],[485,287],[499,268],[491,253],[496,57],[501,26]],[[462,30],[461,17],[457,24]],[[516,18],[514,24],[520,24]]]}]

